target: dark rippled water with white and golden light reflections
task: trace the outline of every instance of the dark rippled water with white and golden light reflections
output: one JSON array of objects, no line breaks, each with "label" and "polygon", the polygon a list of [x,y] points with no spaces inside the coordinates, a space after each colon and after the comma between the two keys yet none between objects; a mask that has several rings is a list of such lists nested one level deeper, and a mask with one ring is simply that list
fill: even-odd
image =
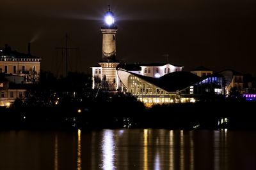
[{"label": "dark rippled water with white and golden light reflections", "polygon": [[256,169],[256,132],[1,131],[0,169]]}]

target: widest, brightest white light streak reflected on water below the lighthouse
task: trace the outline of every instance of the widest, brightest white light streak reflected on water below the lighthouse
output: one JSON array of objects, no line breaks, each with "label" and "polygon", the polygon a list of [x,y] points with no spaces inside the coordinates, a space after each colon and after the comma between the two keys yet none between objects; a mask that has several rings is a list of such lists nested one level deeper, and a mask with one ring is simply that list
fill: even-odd
[{"label": "widest, brightest white light streak reflected on water below the lighthouse", "polygon": [[104,130],[102,139],[102,169],[115,169],[115,139],[113,131]]}]

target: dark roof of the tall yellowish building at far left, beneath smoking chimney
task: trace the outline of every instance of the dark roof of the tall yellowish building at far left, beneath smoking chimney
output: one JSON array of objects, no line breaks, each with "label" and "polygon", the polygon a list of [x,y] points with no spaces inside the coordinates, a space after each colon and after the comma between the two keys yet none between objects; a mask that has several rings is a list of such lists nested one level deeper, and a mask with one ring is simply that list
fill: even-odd
[{"label": "dark roof of the tall yellowish building at far left, beneath smoking chimney", "polygon": [[0,48],[0,57],[3,56],[6,56],[6,58],[15,59],[41,59],[40,57],[36,57],[28,53],[20,53],[16,50],[12,50],[12,48],[8,45],[6,45],[5,48]]}]

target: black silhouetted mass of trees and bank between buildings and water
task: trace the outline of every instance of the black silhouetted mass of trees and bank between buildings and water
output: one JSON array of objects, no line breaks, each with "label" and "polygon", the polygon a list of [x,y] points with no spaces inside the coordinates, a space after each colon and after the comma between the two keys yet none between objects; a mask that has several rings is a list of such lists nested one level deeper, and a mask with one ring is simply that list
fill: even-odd
[{"label": "black silhouetted mass of trees and bank between buildings and water", "polygon": [[[12,108],[0,108],[0,126],[8,129],[256,129],[255,102],[239,98],[225,101],[156,104],[145,108],[134,96],[92,90],[91,76],[69,73],[56,78],[42,71],[40,82],[30,85],[26,99]],[[228,118],[228,125],[220,124]]]}]

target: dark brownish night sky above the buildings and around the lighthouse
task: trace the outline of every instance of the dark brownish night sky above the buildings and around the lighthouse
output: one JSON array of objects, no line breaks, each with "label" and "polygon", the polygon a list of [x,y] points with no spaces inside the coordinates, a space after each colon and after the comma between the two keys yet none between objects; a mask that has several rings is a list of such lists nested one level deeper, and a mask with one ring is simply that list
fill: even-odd
[{"label": "dark brownish night sky above the buildings and around the lighthouse", "polygon": [[205,66],[256,76],[255,0],[3,0],[0,45],[42,57],[42,69],[60,74],[56,46],[68,44],[72,71],[89,72],[101,59],[100,26],[111,5],[115,13],[117,58],[128,63],[166,62],[189,71]]}]

